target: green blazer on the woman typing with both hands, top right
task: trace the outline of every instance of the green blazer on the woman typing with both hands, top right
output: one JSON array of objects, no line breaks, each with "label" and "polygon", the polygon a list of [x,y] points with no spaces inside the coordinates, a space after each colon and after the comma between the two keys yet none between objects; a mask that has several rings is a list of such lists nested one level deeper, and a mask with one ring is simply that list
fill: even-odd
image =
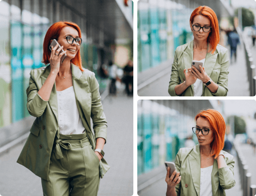
[{"label": "green blazer on the woman typing with both hands, top right", "polygon": [[[210,48],[209,43],[208,48]],[[176,95],[174,91],[176,85],[186,80],[183,70],[186,69],[186,72],[188,72],[188,68],[191,68],[193,54],[193,40],[190,43],[180,45],[176,48],[172,64],[171,81],[169,82],[168,88],[168,92],[171,96],[193,96],[194,85],[190,85],[190,87],[184,90],[180,95]],[[203,84],[202,96],[227,96],[229,74],[228,49],[218,44],[213,55],[211,53],[206,54],[204,67],[207,75],[218,85],[218,90],[216,93],[212,93]]]}]

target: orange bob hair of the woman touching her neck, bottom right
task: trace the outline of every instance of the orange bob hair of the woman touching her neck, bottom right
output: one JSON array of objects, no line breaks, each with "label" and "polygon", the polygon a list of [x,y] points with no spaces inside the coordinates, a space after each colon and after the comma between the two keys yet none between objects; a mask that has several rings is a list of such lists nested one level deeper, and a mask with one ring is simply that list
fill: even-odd
[{"label": "orange bob hair of the woman touching her neck, bottom right", "polygon": [[199,111],[199,113],[195,116],[195,121],[197,121],[199,117],[206,119],[210,123],[210,129],[213,132],[213,140],[212,143],[210,143],[210,147],[212,149],[210,156],[214,156],[214,158],[217,158],[217,156],[220,154],[220,151],[224,147],[224,138],[226,131],[226,124],[224,118],[215,109]]}]

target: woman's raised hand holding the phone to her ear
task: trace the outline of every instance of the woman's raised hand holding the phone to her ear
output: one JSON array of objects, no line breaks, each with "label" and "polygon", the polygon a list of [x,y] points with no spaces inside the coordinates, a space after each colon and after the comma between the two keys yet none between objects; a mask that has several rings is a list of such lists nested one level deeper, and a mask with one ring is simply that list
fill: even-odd
[{"label": "woman's raised hand holding the phone to her ear", "polygon": [[66,51],[64,51],[63,53],[60,53],[60,51],[63,49],[63,46],[61,46],[56,51],[57,47],[58,47],[58,44],[56,44],[54,48],[51,48],[51,57],[49,60],[50,60],[51,72],[55,72],[58,74],[60,70],[61,57],[66,53]]}]

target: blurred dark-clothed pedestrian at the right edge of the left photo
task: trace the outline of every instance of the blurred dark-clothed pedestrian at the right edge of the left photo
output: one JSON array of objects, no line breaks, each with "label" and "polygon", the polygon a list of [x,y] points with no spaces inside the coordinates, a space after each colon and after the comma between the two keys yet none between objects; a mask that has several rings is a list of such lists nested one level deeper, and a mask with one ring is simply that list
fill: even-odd
[{"label": "blurred dark-clothed pedestrian at the right edge of the left photo", "polygon": [[133,61],[129,60],[123,68],[123,82],[125,83],[125,91],[128,96],[133,96]]}]

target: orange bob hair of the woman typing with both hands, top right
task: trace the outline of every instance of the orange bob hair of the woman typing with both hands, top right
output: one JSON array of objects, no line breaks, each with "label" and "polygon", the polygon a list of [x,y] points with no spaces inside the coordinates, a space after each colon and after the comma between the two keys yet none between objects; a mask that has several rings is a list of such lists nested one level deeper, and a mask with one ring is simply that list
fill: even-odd
[{"label": "orange bob hair of the woman typing with both hands, top right", "polygon": [[212,54],[213,54],[214,51],[216,50],[218,43],[220,42],[218,18],[215,12],[208,6],[199,6],[192,12],[190,16],[191,24],[193,24],[194,17],[196,15],[203,15],[210,20],[210,24],[212,28],[211,28],[211,32],[208,35],[207,42],[210,43],[210,51],[212,51]]}]

